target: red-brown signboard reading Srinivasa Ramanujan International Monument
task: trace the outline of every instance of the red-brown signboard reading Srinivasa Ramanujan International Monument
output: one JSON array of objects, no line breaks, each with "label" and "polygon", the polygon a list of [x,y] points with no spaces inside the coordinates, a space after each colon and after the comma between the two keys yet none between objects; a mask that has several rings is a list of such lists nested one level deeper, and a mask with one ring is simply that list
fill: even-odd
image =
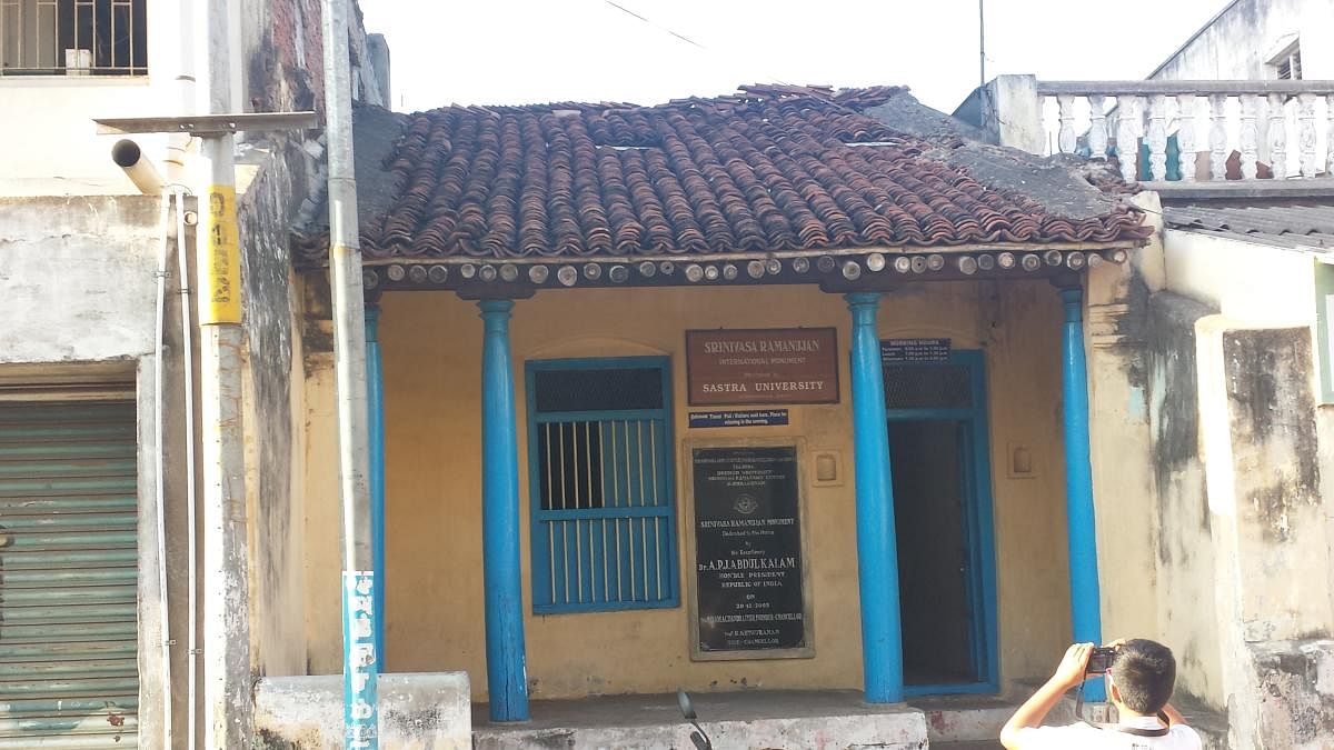
[{"label": "red-brown signboard reading Srinivasa Ramanujan International Monument", "polygon": [[691,406],[838,403],[838,331],[686,331]]}]

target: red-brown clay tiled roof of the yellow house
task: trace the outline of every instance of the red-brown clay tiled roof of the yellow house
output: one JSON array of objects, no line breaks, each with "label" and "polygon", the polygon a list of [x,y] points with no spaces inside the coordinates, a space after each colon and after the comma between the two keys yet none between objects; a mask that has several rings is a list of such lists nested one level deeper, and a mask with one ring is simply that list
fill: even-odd
[{"label": "red-brown clay tiled roof of the yellow house", "polygon": [[[638,256],[1149,234],[1113,200],[1071,216],[1018,180],[975,177],[976,153],[968,167],[951,157],[1002,149],[907,135],[866,113],[902,91],[750,87],[658,107],[410,115],[383,163],[380,207],[363,212],[362,250],[367,258]],[[325,247],[313,238],[301,244],[309,260]]]}]

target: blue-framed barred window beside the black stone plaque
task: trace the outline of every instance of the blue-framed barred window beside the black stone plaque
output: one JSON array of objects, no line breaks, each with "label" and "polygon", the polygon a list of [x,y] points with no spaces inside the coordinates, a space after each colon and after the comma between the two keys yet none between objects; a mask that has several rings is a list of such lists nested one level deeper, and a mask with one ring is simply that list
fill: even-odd
[{"label": "blue-framed barred window beside the black stone plaque", "polygon": [[666,358],[527,364],[538,614],[674,607]]}]

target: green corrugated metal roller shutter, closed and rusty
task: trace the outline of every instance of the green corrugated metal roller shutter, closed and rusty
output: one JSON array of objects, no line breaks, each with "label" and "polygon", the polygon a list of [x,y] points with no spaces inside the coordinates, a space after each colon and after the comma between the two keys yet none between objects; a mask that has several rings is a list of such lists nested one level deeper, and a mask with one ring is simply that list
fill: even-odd
[{"label": "green corrugated metal roller shutter, closed and rusty", "polygon": [[0,749],[137,746],[135,406],[0,402]]}]

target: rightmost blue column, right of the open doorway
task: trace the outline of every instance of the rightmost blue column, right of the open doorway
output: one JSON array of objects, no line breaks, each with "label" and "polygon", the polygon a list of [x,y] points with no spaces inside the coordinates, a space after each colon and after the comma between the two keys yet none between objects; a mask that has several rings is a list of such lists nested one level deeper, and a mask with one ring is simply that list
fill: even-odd
[{"label": "rightmost blue column, right of the open doorway", "polygon": [[[1066,308],[1061,347],[1065,395],[1066,523],[1070,544],[1070,622],[1077,642],[1102,645],[1098,593],[1098,534],[1093,508],[1093,467],[1089,463],[1089,372],[1083,348],[1083,291],[1061,290]],[[1101,679],[1085,686],[1089,701],[1103,701]]]}]

